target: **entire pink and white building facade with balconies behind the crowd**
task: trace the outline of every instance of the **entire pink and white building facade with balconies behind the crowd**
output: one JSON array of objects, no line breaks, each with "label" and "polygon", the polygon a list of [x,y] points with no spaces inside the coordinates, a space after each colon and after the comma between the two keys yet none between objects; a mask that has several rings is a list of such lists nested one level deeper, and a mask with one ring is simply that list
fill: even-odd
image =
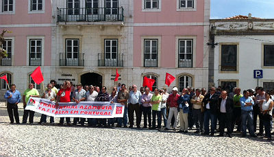
[{"label": "entire pink and white building facade with balconies behind the crowd", "polygon": [[[1,29],[12,33],[5,34],[9,56],[1,60],[0,72],[21,92],[38,66],[45,84],[140,87],[147,76],[155,79],[153,88],[162,88],[167,72],[176,77],[169,90],[208,87],[210,0],[1,0],[1,5]],[[1,86],[4,93],[3,80]]]}]

